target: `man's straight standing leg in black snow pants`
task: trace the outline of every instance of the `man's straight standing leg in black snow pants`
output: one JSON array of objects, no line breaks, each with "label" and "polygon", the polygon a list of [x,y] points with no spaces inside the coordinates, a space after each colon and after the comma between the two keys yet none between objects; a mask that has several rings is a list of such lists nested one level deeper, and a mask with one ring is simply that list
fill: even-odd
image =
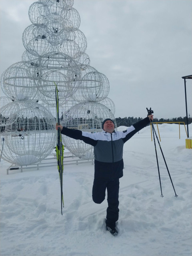
[{"label": "man's straight standing leg in black snow pants", "polygon": [[108,182],[107,184],[107,216],[106,226],[115,228],[116,221],[119,218],[119,179]]}]

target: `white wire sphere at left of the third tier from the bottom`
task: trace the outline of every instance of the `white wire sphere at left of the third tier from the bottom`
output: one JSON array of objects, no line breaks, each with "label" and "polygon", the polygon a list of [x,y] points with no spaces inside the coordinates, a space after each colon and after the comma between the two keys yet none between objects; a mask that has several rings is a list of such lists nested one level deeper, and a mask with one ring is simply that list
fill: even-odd
[{"label": "white wire sphere at left of the third tier from the bottom", "polygon": [[22,35],[23,45],[34,56],[42,56],[53,51],[53,46],[47,40],[46,25],[28,26]]}]

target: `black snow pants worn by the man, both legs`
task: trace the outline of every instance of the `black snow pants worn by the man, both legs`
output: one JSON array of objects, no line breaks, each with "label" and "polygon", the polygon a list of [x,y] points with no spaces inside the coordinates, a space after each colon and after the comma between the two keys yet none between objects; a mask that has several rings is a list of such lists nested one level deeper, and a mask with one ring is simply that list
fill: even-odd
[{"label": "black snow pants worn by the man, both legs", "polygon": [[96,204],[101,204],[104,201],[106,189],[108,201],[106,226],[115,228],[116,221],[119,218],[119,179],[109,181],[94,178],[92,198]]}]

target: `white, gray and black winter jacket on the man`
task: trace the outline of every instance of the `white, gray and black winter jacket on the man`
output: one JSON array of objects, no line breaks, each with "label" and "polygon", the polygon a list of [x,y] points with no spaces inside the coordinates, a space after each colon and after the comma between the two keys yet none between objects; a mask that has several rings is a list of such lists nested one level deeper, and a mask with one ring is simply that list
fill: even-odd
[{"label": "white, gray and black winter jacket on the man", "polygon": [[94,146],[95,178],[114,180],[123,176],[123,146],[136,132],[150,123],[148,117],[123,132],[90,133],[63,127],[62,134]]}]

